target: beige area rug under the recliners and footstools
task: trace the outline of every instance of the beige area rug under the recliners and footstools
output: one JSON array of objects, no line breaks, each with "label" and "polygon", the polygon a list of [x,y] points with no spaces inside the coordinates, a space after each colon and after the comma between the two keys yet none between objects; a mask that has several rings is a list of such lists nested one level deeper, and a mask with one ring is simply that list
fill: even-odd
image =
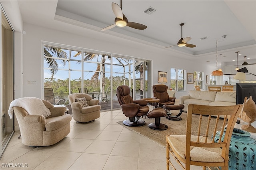
[{"label": "beige area rug under the recliners and footstools", "polygon": [[[172,110],[171,112],[173,113],[173,115],[177,115],[177,113],[179,113],[179,111],[180,110]],[[166,119],[165,117],[161,117],[160,123],[167,125],[168,126],[167,130],[153,130],[153,129],[149,128],[148,124],[155,123],[155,119],[149,119],[148,117],[145,119],[145,116],[143,116],[143,118],[140,117],[140,119],[142,119],[146,122],[146,124],[141,127],[128,127],[128,126],[124,125],[122,123],[122,121],[119,121],[118,123],[130,130],[133,130],[134,132],[137,132],[137,133],[145,136],[146,138],[149,138],[149,139],[157,142],[158,144],[160,144],[162,146],[166,146],[166,134],[181,134],[181,135],[186,134],[187,113],[182,112],[180,117],[182,118],[181,121],[171,121],[171,120]],[[193,117],[192,120],[195,120],[196,123],[199,121],[199,115],[193,114],[192,117]],[[202,127],[205,127],[207,125],[207,120],[208,120],[208,117],[203,117],[202,125],[201,125]],[[211,123],[215,125],[215,120],[212,119]],[[221,127],[222,124],[223,124],[223,119],[221,119],[219,121],[219,123],[218,123],[219,127]],[[214,128],[210,127],[209,129],[210,129],[209,134],[212,134]],[[218,129],[220,129],[220,128],[218,128]],[[197,126],[196,125],[192,126],[192,131],[194,131],[194,132],[192,132],[193,133],[192,135],[197,134]],[[209,136],[209,137],[211,137],[211,136]]]}]

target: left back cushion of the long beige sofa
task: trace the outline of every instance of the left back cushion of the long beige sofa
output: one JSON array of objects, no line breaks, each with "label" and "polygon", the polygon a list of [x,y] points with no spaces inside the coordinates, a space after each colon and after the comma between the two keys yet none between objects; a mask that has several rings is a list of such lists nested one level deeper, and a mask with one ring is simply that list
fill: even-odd
[{"label": "left back cushion of the long beige sofa", "polygon": [[190,90],[188,92],[190,95],[190,99],[200,99],[200,100],[208,100],[208,101],[214,101],[216,91],[196,91],[196,90]]}]

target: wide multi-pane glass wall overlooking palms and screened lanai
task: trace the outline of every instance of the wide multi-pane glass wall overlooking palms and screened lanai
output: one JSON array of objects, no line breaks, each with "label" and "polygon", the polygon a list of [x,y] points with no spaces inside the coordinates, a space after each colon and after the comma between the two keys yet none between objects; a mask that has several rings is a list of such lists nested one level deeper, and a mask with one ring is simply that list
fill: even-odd
[{"label": "wide multi-pane glass wall overlooking palms and screened lanai", "polygon": [[128,85],[133,99],[149,96],[148,60],[60,45],[43,44],[43,48],[44,88],[52,88],[54,97],[65,99],[60,104],[69,107],[71,93],[88,93],[100,101],[101,110],[120,109],[118,85]]}]

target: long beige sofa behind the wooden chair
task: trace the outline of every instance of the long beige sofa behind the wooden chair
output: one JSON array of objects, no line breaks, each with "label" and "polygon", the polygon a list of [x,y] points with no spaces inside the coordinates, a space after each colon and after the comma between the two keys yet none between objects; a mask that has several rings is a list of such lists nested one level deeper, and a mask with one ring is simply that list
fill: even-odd
[{"label": "long beige sofa behind the wooden chair", "polygon": [[236,105],[236,91],[196,91],[190,90],[188,95],[180,97],[180,104],[184,105],[184,111],[188,110],[188,104],[230,106]]}]

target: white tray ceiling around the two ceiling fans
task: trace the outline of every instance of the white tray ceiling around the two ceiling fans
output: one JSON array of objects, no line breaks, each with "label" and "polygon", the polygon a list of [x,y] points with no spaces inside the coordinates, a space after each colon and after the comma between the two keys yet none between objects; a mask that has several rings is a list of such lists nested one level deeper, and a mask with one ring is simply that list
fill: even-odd
[{"label": "white tray ceiling around the two ceiling fans", "polygon": [[[81,28],[101,32],[102,28],[114,24],[112,2],[120,5],[120,0],[19,0],[18,4],[26,23],[82,34]],[[157,11],[145,14],[149,7]],[[222,54],[222,62],[236,64],[232,61],[236,60],[236,51],[243,53],[238,56],[238,61],[247,56],[256,62],[255,0],[122,0],[122,12],[128,21],[148,28],[115,27],[104,34],[147,43],[170,52],[177,50],[195,60],[211,61],[212,64],[216,64],[218,39],[218,54]],[[188,43],[197,46],[164,49],[180,40],[180,23],[184,23],[183,38],[191,37]],[[222,38],[224,35],[225,39]],[[200,40],[204,37],[208,39]]]}]

